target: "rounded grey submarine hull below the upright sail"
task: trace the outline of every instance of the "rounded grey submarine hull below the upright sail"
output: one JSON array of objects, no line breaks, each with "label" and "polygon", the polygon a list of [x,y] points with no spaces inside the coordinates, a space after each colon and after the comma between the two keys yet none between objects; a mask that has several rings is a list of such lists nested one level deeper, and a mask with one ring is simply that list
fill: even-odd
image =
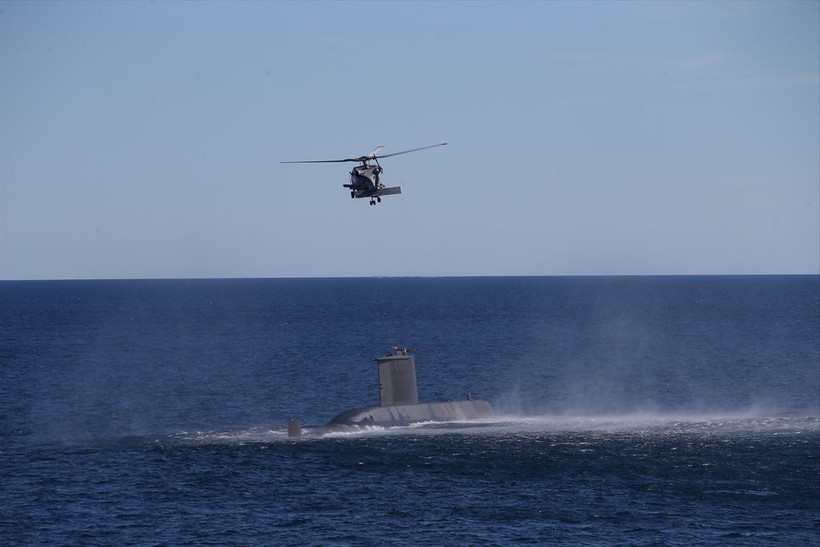
[{"label": "rounded grey submarine hull below the upright sail", "polygon": [[494,414],[487,401],[447,401],[414,405],[390,405],[353,408],[336,415],[328,427],[335,426],[406,426],[419,422],[454,422],[476,420]]}]

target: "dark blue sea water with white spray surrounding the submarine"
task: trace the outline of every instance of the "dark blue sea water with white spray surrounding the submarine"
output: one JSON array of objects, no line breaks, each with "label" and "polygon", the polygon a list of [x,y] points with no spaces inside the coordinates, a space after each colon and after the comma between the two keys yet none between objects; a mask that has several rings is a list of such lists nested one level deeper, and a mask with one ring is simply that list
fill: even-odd
[{"label": "dark blue sea water with white spray surrounding the submarine", "polygon": [[[0,282],[30,545],[811,545],[820,277]],[[422,400],[483,423],[288,439]]]}]

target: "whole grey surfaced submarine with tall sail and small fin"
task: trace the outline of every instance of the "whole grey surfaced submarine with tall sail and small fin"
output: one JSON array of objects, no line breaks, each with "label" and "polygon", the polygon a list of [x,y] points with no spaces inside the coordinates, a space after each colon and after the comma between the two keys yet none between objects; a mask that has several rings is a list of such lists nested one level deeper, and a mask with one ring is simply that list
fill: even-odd
[{"label": "whole grey surfaced submarine with tall sail and small fin", "polygon": [[[407,349],[393,347],[393,353],[376,358],[379,371],[379,405],[351,408],[334,416],[326,426],[310,434],[362,429],[369,426],[397,427],[420,422],[476,420],[495,414],[487,401],[473,399],[439,403],[419,403],[416,362]],[[301,437],[298,420],[288,422],[288,436]]]}]

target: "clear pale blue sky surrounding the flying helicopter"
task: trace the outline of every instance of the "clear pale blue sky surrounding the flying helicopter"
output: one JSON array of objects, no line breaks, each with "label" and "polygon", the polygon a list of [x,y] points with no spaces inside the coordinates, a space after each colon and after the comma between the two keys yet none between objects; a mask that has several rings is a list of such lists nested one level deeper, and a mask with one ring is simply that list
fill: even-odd
[{"label": "clear pale blue sky surrounding the flying helicopter", "polygon": [[2,280],[817,273],[817,1],[0,2]]}]

